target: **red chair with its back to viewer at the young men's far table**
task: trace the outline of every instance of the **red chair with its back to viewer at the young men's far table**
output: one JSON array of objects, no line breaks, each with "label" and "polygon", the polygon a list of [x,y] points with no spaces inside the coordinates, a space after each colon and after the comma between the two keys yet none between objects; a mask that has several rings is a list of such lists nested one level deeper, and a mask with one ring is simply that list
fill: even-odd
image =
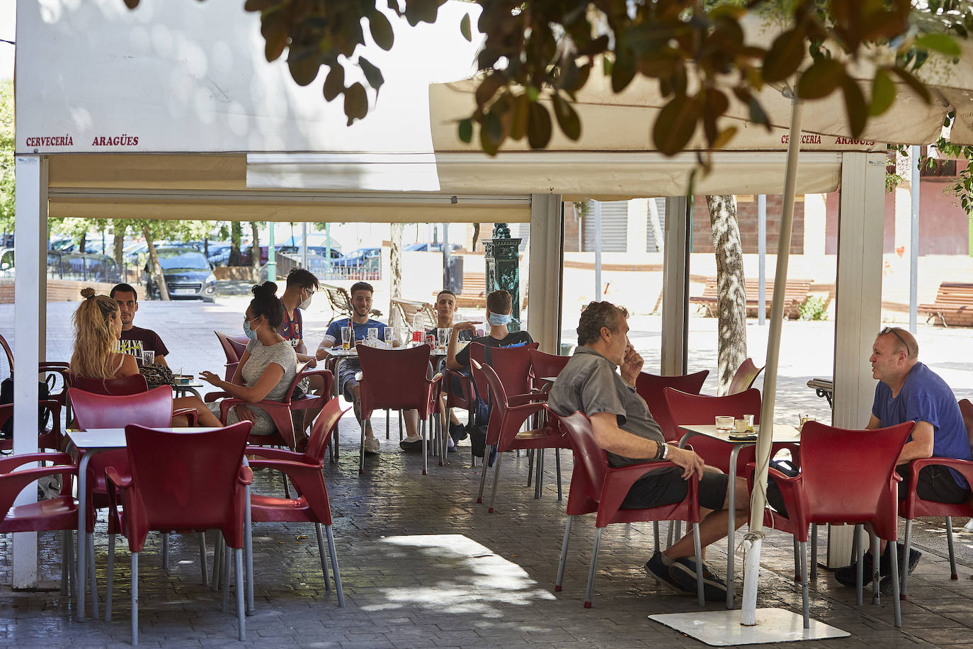
[{"label": "red chair with its back to viewer at the young men's far table", "polygon": [[[438,390],[442,375],[428,379],[429,345],[420,344],[407,349],[378,349],[358,343],[358,363],[361,379],[358,381],[361,395],[362,435],[358,451],[358,473],[365,472],[365,422],[376,410],[417,410],[422,422],[422,475],[428,473],[426,457],[426,420],[438,408]],[[435,427],[440,465],[446,459],[446,441],[439,430],[439,417],[434,417],[430,428]]]}]

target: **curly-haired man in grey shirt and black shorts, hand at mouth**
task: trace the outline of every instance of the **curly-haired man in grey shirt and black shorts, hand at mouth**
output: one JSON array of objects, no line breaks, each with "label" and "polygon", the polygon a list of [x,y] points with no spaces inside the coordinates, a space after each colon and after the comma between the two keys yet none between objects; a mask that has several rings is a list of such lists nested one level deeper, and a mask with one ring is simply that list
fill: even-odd
[{"label": "curly-haired man in grey shirt and black shorts, hand at mouth", "polygon": [[[687,480],[699,479],[700,542],[704,546],[727,533],[729,478],[694,451],[666,444],[666,438],[635,392],[642,357],[629,343],[628,312],[607,302],[593,302],[581,313],[578,347],[561,371],[548,406],[559,415],[582,412],[592,421],[595,442],[608,454],[612,466],[651,460],[675,464],[646,472],[629,490],[624,509],[661,507],[686,497]],[[621,374],[618,369],[621,368]],[[747,520],[749,494],[746,481],[737,479],[737,526]],[[703,551],[704,552],[704,551]],[[649,576],[679,593],[696,595],[693,538],[687,534],[665,552],[656,552],[645,564]],[[726,599],[726,584],[703,564],[706,599]]]}]

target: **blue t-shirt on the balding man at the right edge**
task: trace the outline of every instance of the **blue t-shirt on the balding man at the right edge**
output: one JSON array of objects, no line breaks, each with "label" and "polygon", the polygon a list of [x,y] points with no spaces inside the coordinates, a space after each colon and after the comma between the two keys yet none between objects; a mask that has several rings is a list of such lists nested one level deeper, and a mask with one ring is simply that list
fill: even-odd
[{"label": "blue t-shirt on the balding man at the right edge", "polygon": [[[913,366],[897,397],[882,381],[875,386],[872,414],[882,426],[894,426],[903,421],[928,421],[932,424],[932,456],[973,459],[963,415],[953,390],[938,374],[922,363]],[[912,436],[909,440],[912,441]],[[950,469],[956,484],[968,487],[966,481]]]}]

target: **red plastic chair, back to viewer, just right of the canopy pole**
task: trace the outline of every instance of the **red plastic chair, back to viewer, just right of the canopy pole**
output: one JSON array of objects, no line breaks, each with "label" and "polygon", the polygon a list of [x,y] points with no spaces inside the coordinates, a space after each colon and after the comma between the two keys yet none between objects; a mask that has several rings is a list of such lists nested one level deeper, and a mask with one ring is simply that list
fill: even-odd
[{"label": "red plastic chair, back to viewer, just right of the canopy pole", "polygon": [[[808,610],[808,526],[811,523],[854,523],[855,536],[863,523],[870,523],[872,556],[879,556],[877,538],[893,544],[898,534],[898,488],[895,461],[912,433],[915,421],[876,430],[846,430],[817,421],[801,429],[801,473],[786,476],[771,467],[787,517],[768,510],[764,524],[793,534],[800,546],[801,581],[804,594],[804,627],[809,626]],[[756,463],[747,466],[747,483],[753,490]],[[864,544],[858,546],[858,603],[862,603],[862,559]],[[902,626],[899,609],[898,553],[890,552],[892,562],[895,626]],[[879,561],[872,562],[873,601],[879,603]]]}]

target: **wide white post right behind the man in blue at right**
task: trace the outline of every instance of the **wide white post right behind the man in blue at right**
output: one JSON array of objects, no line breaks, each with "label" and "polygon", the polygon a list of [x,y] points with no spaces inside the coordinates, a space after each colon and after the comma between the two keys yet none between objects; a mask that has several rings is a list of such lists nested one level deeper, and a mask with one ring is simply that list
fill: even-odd
[{"label": "wide white post right behind the man in blue at right", "polygon": [[[832,425],[862,428],[875,399],[868,358],[882,327],[884,154],[842,155]],[[829,526],[828,567],[847,565],[851,526]]]}]

